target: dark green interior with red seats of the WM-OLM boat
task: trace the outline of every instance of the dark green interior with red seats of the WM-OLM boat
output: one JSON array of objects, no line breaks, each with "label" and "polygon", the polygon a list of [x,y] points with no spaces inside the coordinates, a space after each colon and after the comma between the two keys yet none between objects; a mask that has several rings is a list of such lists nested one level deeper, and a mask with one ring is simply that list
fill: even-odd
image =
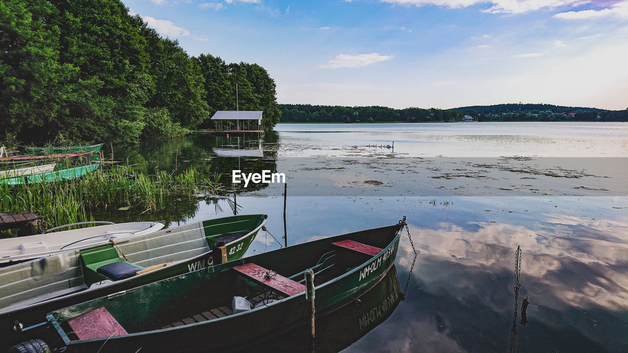
[{"label": "dark green interior with red seats of the WM-OLM boat", "polygon": [[194,325],[298,295],[305,291],[308,269],[315,273],[318,298],[325,288],[342,291],[333,280],[381,253],[396,231],[354,234],[359,242],[333,237],[253,256],[251,262],[230,261],[63,308],[48,319],[68,340]]}]

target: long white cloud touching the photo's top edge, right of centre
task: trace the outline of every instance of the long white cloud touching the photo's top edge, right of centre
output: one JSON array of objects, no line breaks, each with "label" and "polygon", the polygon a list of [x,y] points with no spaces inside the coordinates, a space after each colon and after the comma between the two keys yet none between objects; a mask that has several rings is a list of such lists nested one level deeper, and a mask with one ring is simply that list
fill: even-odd
[{"label": "long white cloud touching the photo's top edge, right of centre", "polygon": [[[541,8],[556,8],[558,6],[577,6],[587,1],[583,0],[381,0],[383,3],[398,5],[436,5],[447,8],[466,8],[475,4],[489,3],[492,6],[482,10],[485,13],[525,13]],[[619,5],[619,4],[617,4]],[[617,6],[616,5],[616,6]],[[594,10],[590,10],[594,11]],[[601,10],[604,11],[604,10]],[[582,11],[581,11],[582,12]]]}]

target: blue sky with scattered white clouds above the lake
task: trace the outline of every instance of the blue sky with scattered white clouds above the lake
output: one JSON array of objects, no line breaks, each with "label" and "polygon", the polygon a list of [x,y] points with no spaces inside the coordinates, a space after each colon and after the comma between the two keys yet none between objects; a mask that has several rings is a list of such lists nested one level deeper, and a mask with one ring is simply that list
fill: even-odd
[{"label": "blue sky with scattered white clouds above the lake", "polygon": [[628,0],[122,0],[285,104],[627,109]]}]

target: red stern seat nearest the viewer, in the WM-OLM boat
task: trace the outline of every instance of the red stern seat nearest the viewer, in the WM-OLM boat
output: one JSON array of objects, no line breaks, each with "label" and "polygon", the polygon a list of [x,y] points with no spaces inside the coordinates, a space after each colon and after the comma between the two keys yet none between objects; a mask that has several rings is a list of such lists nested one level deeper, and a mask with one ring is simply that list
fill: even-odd
[{"label": "red stern seat nearest the viewer, in the WM-OLM boat", "polygon": [[68,325],[80,340],[127,335],[107,309],[100,307],[68,320]]}]

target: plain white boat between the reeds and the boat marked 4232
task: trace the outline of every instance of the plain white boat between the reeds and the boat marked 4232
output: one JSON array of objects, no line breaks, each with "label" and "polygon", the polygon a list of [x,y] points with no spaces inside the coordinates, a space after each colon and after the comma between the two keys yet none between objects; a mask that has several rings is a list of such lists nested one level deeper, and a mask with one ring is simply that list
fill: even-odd
[{"label": "plain white boat between the reeds and the boat marked 4232", "polygon": [[[48,231],[67,227],[68,225],[62,225]],[[111,223],[89,228],[72,229],[71,231],[53,233],[46,233],[46,231],[34,236],[0,239],[0,265],[66,253],[82,247],[105,244],[110,239],[121,241],[129,237],[150,234],[159,231],[163,227],[164,225],[160,222]]]}]

